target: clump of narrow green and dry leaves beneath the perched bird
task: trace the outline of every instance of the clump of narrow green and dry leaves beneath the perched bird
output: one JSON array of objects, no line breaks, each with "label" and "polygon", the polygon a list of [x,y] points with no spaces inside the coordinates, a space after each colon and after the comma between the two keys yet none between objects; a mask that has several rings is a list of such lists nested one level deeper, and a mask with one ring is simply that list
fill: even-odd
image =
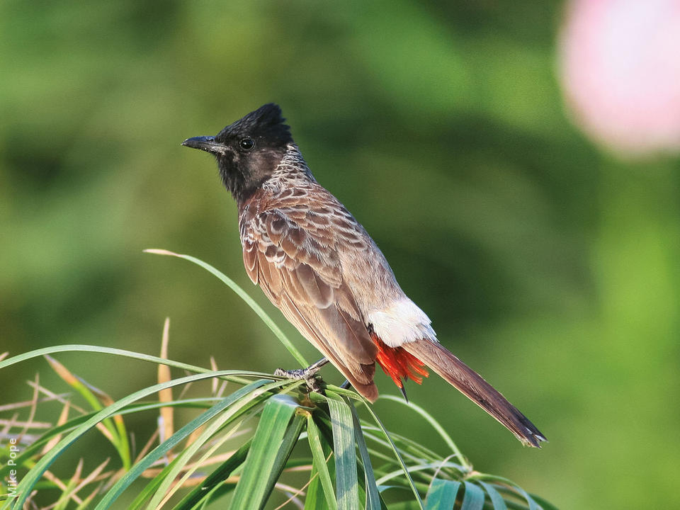
[{"label": "clump of narrow green and dry leaves beneath the perched bird", "polygon": [[[202,261],[187,256],[181,258],[198,263],[223,281],[228,280]],[[229,285],[243,293],[234,283]],[[263,319],[271,322],[269,317]],[[194,373],[160,380],[163,376],[159,371],[158,384],[114,401],[101,390],[91,390],[84,380],[49,356],[67,351],[127,356]],[[63,402],[64,409],[73,405],[78,416],[68,419],[67,413],[62,412],[61,423],[49,426],[20,455],[10,456],[10,451],[4,452],[5,460],[11,459],[12,463],[5,462],[0,476],[8,475],[11,469],[27,472],[11,496],[10,487],[5,483],[2,509],[20,509],[26,504],[42,507],[56,502],[55,508],[60,510],[104,510],[119,504],[125,492],[136,494],[128,509],[190,510],[207,509],[213,504],[222,508],[227,497],[230,509],[259,509],[273,499],[274,492],[287,498],[277,508],[286,504],[300,506],[304,499],[306,510],[358,510],[360,507],[380,510],[400,502],[412,502],[421,510],[448,510],[454,504],[464,510],[482,509],[485,504],[494,510],[504,510],[509,505],[529,510],[539,508],[534,497],[509,480],[473,470],[441,425],[419,407],[413,408],[416,415],[433,426],[453,455],[444,457],[418,441],[388,433],[363,397],[331,385],[321,395],[309,393],[300,380],[237,370],[207,370],[141,353],[77,345],[42,348],[14,356],[0,361],[0,370],[38,356],[50,361],[50,366],[74,387],[91,411],[78,409],[69,399],[57,398],[54,393],[39,388]],[[208,379],[224,379],[240,387],[227,397],[210,395],[191,400],[161,398],[161,402],[138,402],[157,393],[164,395],[164,391],[172,387]],[[162,412],[163,408],[174,413],[176,409],[193,409],[197,405],[205,410],[169,437],[161,437],[155,448],[150,449],[156,442],[156,434],[139,453],[130,446],[124,415],[161,408],[159,431],[166,431],[162,419],[168,414]],[[373,423],[362,420],[355,405],[365,409]],[[16,404],[12,410],[21,407],[22,404]],[[25,430],[35,426],[38,399],[34,398],[29,407]],[[12,429],[10,424],[10,435]],[[93,429],[98,429],[113,443],[120,456],[120,470],[102,472],[101,465],[84,476],[81,459],[71,477],[60,478],[48,471],[72,450],[82,455],[77,441]],[[237,446],[225,452],[234,440],[238,441]],[[294,450],[300,453],[302,447],[302,456],[293,455]],[[132,458],[134,462],[130,461]],[[457,458],[461,463],[453,463],[450,458]],[[331,459],[333,462],[329,465]],[[375,460],[380,464],[374,467]],[[310,472],[307,483],[299,489],[285,482],[287,475],[295,471]],[[133,489],[142,477],[150,478],[149,482]],[[91,492],[82,498],[80,492],[85,488]],[[548,509],[550,506],[546,505],[545,510]]]}]

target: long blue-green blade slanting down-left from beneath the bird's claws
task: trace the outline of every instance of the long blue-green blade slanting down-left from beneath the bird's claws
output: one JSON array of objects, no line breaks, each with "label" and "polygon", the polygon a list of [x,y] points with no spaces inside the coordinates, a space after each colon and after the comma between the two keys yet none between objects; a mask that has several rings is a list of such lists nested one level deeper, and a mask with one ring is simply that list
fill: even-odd
[{"label": "long blue-green blade slanting down-left from beneath the bird's claws", "polygon": [[[196,376],[194,375],[192,377]],[[232,393],[232,395],[229,395],[229,397],[222,400],[222,402],[215,404],[210,409],[208,409],[208,411],[191,420],[188,424],[179,429],[179,431],[176,431],[172,436],[166,439],[166,441],[159,444],[159,446],[149,452],[145,458],[142,458],[142,460],[133,465],[132,469],[126,472],[123,477],[120,477],[120,480],[115,482],[115,485],[113,485],[113,487],[111,487],[111,489],[106,492],[106,496],[104,496],[101,502],[99,502],[99,504],[96,506],[96,510],[104,510],[111,506],[115,499],[117,499],[118,496],[120,496],[120,494],[122,494],[123,491],[125,491],[125,489],[127,489],[132,484],[132,482],[134,482],[137,477],[142,474],[142,472],[147,470],[154,462],[156,462],[159,458],[162,458],[165,453],[177,446],[180,441],[188,437],[189,434],[191,434],[199,426],[203,425],[206,421],[212,419],[214,416],[222,412],[227,414],[227,416],[230,416],[232,419],[236,418],[242,414],[244,410],[249,408],[249,404],[251,404],[254,399],[257,397],[263,397],[263,394],[266,393],[267,390],[271,389],[273,385],[280,385],[280,382],[270,382],[269,384],[266,384],[266,382],[266,380],[260,380],[253,382],[246,387],[240,388],[236,392]],[[266,396],[264,397],[266,398]],[[227,421],[223,421],[223,423],[226,422]]]}]

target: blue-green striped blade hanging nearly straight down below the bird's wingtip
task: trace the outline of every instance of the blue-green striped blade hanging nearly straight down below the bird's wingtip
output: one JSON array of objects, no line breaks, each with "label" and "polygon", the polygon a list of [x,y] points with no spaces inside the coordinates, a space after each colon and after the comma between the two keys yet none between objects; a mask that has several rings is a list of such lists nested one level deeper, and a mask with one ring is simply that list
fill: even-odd
[{"label": "blue-green striped blade hanging nearly straight down below the bird's wingtip", "polygon": [[335,487],[338,508],[358,510],[358,479],[356,475],[356,450],[354,426],[349,406],[334,392],[327,391],[328,408],[333,427],[333,452],[335,455]]}]

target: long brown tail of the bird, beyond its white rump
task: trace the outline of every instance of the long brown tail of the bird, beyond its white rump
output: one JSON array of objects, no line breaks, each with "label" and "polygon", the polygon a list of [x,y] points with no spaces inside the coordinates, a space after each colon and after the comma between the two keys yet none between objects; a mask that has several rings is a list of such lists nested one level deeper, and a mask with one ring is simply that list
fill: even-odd
[{"label": "long brown tail of the bird, beyond its white rump", "polygon": [[406,342],[402,344],[402,347],[458,388],[472,402],[491,414],[506,429],[514,433],[524,445],[540,448],[540,442],[546,441],[545,436],[526,416],[521,414],[481,375],[453,356],[438,342],[418,340]]}]

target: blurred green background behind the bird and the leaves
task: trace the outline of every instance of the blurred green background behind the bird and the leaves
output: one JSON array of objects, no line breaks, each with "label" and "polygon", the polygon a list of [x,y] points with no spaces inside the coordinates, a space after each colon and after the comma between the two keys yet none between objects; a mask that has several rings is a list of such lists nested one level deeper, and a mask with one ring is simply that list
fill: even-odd
[{"label": "blurred green background behind the bird and the leaves", "polygon": [[[157,353],[169,316],[176,360],[295,367],[215,278],[142,254],[165,248],[237,280],[314,359],[246,277],[214,162],[180,147],[276,101],[443,344],[550,440],[521,448],[438,378],[409,385],[475,467],[565,509],[674,506],[680,161],[621,162],[570,123],[562,8],[1,1],[0,351]],[[156,378],[133,361],[60,360],[113,397]],[[0,374],[1,399],[30,398],[37,371]],[[377,406],[441,450],[401,407]]]}]

